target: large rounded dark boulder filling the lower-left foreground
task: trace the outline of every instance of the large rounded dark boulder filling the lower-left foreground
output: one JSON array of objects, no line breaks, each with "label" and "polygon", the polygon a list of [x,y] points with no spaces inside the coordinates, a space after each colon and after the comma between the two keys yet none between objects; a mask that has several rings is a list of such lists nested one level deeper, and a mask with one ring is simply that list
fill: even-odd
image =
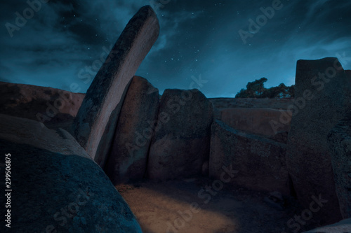
[{"label": "large rounded dark boulder filling the lower-left foreground", "polygon": [[0,115],[0,153],[11,158],[7,230],[141,232],[109,178],[65,130]]}]

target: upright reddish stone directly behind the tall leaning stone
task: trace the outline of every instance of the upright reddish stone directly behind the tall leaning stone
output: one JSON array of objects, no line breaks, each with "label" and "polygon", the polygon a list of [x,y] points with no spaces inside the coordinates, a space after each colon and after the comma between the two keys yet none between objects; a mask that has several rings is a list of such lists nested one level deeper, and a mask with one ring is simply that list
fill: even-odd
[{"label": "upright reddish stone directly behind the tall leaning stone", "polygon": [[105,171],[114,185],[145,176],[147,155],[157,122],[159,90],[134,76],[129,85]]}]

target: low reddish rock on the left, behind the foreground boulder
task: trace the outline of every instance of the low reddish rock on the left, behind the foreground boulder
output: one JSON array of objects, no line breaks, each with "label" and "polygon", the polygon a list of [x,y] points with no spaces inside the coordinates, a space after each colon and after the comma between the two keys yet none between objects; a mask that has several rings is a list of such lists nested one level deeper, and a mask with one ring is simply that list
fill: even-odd
[{"label": "low reddish rock on the left, behind the foreground boulder", "polygon": [[0,82],[0,113],[65,129],[77,115],[85,94],[51,87]]}]

